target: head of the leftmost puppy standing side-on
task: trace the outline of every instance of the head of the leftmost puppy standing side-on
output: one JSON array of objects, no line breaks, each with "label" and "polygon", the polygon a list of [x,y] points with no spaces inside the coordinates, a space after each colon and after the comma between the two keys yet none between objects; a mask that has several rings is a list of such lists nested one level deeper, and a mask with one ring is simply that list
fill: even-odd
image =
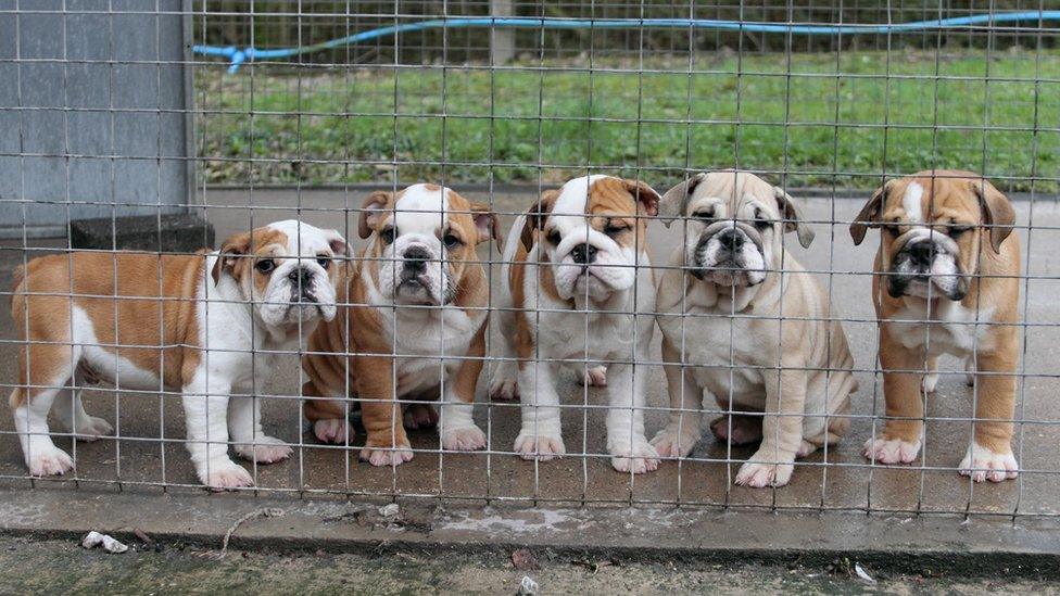
[{"label": "head of the leftmost puppy standing side-on", "polygon": [[267,328],[335,318],[335,259],[350,254],[336,230],[288,219],[232,236],[220,253],[215,281],[231,275]]}]

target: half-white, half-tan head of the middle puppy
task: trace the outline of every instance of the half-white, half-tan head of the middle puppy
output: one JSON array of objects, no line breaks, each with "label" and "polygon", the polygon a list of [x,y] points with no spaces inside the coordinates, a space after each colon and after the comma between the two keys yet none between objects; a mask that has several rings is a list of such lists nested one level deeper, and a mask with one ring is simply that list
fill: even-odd
[{"label": "half-white, half-tan head of the middle puppy", "polygon": [[545,192],[537,205],[542,215],[534,217],[531,210],[527,227],[539,230],[539,251],[555,266],[559,297],[601,302],[632,288],[638,254],[646,250],[641,217],[655,215],[658,202],[659,194],[644,182],[611,176],[575,178]]}]

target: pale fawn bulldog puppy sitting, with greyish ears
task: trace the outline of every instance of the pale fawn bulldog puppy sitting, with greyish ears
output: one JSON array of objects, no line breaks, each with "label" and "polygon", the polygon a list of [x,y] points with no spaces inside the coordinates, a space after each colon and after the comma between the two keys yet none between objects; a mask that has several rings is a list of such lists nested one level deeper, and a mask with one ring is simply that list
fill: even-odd
[{"label": "pale fawn bulldog puppy sitting, with greyish ears", "polygon": [[707,392],[733,411],[711,422],[716,438],[761,442],[736,483],[783,486],[796,457],[846,431],[857,390],[828,294],[783,245],[785,231],[804,248],[813,232],[794,199],[746,172],[693,176],[667,191],[660,216],[685,219],[656,300],[674,411],[652,443],[661,456],[689,455],[701,418],[689,410]]}]

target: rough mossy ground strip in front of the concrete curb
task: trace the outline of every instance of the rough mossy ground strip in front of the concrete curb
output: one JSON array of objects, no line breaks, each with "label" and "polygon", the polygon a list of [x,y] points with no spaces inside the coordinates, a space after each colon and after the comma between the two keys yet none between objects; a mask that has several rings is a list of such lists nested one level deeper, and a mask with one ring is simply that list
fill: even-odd
[{"label": "rough mossy ground strip in front of the concrete curb", "polygon": [[0,592],[217,594],[516,594],[525,576],[539,594],[1057,594],[1056,583],[1011,576],[962,578],[929,569],[880,573],[873,583],[836,560],[823,566],[636,562],[538,553],[516,568],[507,554],[395,550],[282,554],[229,550],[185,542],[131,543],[108,555],[77,541],[0,540]]}]

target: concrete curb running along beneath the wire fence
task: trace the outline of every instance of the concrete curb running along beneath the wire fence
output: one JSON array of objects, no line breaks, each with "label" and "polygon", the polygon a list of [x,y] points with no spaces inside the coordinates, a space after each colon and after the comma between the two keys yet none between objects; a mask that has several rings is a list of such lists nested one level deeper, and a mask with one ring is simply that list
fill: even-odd
[{"label": "concrete curb running along beneath the wire fence", "polygon": [[[265,515],[268,509],[272,517]],[[263,513],[255,516],[255,512]],[[282,515],[276,515],[281,512]],[[242,518],[242,523],[236,524]],[[247,498],[220,494],[0,491],[0,533],[52,538],[90,530],[135,541],[220,548],[503,554],[619,561],[768,562],[824,566],[849,559],[880,571],[1060,578],[1051,518],[771,513],[647,508],[443,508],[416,502],[383,515],[378,504]]]}]

